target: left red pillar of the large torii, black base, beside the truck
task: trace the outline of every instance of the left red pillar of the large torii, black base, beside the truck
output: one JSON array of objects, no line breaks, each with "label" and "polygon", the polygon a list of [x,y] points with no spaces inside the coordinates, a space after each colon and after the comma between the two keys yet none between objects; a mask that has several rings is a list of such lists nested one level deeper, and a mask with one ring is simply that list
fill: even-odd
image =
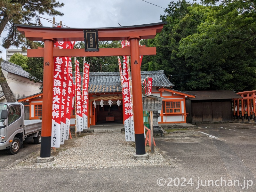
[{"label": "left red pillar of the large torii, black base, beside the truck", "polygon": [[52,38],[44,40],[44,88],[40,157],[51,156],[52,95],[53,95],[53,46]]}]

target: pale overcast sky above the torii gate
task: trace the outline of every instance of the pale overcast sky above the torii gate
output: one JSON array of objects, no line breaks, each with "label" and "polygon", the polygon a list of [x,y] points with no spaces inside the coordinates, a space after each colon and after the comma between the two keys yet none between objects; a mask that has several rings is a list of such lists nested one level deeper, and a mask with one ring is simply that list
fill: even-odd
[{"label": "pale overcast sky above the torii gate", "polygon": [[[145,0],[149,3],[168,8],[171,0]],[[102,28],[121,26],[142,25],[161,22],[160,15],[164,9],[146,3],[142,0],[60,0],[64,7],[59,10],[64,13],[63,17],[56,16],[56,22],[71,28]],[[175,0],[174,0],[175,1]],[[48,15],[42,17],[52,20]],[[52,27],[47,20],[42,19],[46,27]],[[2,33],[2,36],[5,34]],[[2,39],[1,39],[2,44]],[[11,47],[17,49],[16,47]],[[1,46],[2,57],[6,59],[6,50]]]}]

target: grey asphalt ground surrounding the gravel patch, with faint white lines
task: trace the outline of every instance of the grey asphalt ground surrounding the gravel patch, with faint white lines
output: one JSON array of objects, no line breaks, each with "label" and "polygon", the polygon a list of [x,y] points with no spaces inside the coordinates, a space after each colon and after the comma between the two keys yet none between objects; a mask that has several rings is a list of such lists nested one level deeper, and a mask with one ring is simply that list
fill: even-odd
[{"label": "grey asphalt ground surrounding the gravel patch, with faint white lines", "polygon": [[40,145],[29,144],[30,152],[21,150],[20,156],[0,153],[0,191],[56,191],[58,186],[61,191],[255,192],[256,126],[229,123],[198,127],[156,138],[157,149],[170,166],[12,169],[10,164],[40,150]]}]

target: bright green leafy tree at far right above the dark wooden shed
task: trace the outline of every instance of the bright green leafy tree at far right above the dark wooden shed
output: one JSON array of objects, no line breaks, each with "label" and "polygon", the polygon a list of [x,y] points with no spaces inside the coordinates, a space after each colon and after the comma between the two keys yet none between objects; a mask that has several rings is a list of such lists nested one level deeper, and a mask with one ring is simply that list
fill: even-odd
[{"label": "bright green leafy tree at far right above the dark wooden shed", "polygon": [[[193,90],[245,91],[256,88],[255,9],[242,1],[210,10],[197,32],[180,41],[179,54],[191,68]],[[238,3],[239,2],[239,3]]]}]

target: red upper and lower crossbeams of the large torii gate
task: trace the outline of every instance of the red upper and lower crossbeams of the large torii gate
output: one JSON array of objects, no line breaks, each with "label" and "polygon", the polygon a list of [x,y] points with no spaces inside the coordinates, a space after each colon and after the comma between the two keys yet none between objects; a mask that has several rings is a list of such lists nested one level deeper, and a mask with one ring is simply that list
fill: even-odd
[{"label": "red upper and lower crossbeams of the large torii gate", "polygon": [[[84,41],[83,30],[98,29],[99,41],[129,40],[131,38],[152,39],[156,33],[163,29],[166,22],[145,25],[134,25],[126,27],[110,28],[52,28],[30,25],[15,26],[31,41],[44,41],[51,38],[54,41]],[[155,55],[156,47],[140,47],[140,55]],[[44,49],[28,50],[28,57],[44,57]],[[104,48],[100,52],[84,52],[84,49],[55,49],[54,57],[98,57],[98,56],[120,56],[131,55],[130,48]]]}]

